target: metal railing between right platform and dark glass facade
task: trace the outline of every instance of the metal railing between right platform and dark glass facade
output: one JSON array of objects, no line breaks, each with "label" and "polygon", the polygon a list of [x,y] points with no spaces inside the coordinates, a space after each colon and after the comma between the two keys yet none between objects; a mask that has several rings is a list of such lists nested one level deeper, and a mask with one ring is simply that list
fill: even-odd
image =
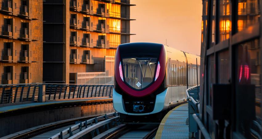
[{"label": "metal railing between right platform and dark glass facade", "polygon": [[[198,85],[199,86],[199,85]],[[203,134],[203,136],[205,137],[205,139],[211,139],[209,133],[207,132],[207,129],[205,128],[205,126],[203,125],[203,123],[201,122],[201,120],[198,117],[199,113],[199,102],[196,102],[194,100],[194,98],[192,96],[189,95],[188,91],[190,90],[196,90],[197,88],[197,95],[194,97],[197,97],[199,95],[199,89],[198,86],[193,86],[190,87],[186,90],[186,95],[187,95],[187,100],[188,100],[188,105],[190,105],[189,110],[188,110],[188,115],[189,115],[189,130],[194,129],[194,125],[197,124],[197,126],[199,127],[200,132]],[[193,94],[193,93],[192,93]],[[192,119],[190,119],[191,116],[194,118],[194,121]],[[195,124],[195,123],[196,124]],[[197,132],[197,131],[196,131]],[[197,135],[198,136],[198,135]]]}]

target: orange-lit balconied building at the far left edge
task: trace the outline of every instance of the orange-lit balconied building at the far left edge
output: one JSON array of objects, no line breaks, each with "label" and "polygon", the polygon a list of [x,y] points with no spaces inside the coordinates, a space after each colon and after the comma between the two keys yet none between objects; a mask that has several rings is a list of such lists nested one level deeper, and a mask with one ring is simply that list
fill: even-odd
[{"label": "orange-lit balconied building at the far left edge", "polygon": [[0,1],[0,84],[43,81],[43,1]]}]

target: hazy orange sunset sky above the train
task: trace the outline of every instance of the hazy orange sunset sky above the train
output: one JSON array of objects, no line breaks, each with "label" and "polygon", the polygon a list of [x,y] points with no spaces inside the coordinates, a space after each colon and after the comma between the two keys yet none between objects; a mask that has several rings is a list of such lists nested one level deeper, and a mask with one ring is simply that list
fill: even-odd
[{"label": "hazy orange sunset sky above the train", "polygon": [[131,0],[130,42],[167,44],[200,55],[202,0]]}]

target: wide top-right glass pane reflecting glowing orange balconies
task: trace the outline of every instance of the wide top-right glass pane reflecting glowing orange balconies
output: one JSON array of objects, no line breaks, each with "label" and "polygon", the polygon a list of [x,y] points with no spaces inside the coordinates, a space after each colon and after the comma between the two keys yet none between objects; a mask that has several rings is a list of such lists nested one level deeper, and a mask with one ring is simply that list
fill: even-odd
[{"label": "wide top-right glass pane reflecting glowing orange balconies", "polygon": [[238,31],[259,21],[260,14],[258,2],[258,0],[238,0]]}]

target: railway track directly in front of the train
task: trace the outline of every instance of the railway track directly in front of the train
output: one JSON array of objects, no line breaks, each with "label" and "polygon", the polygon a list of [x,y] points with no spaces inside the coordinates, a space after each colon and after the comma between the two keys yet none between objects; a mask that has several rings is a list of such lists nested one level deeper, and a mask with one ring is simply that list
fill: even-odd
[{"label": "railway track directly in front of the train", "polygon": [[128,138],[141,138],[141,139],[152,139],[155,137],[158,130],[156,124],[145,124],[145,125],[125,125],[125,127],[117,130],[106,139],[124,139]]}]

